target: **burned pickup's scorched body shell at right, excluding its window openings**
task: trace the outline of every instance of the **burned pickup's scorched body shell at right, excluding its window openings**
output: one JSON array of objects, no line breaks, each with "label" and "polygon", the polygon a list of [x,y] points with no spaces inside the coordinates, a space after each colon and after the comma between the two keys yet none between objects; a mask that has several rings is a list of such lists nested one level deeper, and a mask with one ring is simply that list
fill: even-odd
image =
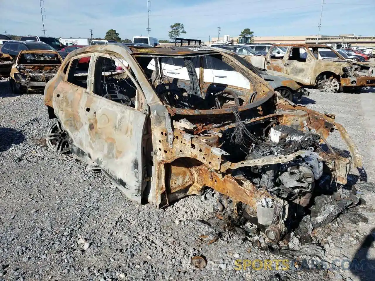
[{"label": "burned pickup's scorched body shell at right, excluding its window openings", "polygon": [[[272,58],[273,47],[287,47],[282,59]],[[303,48],[307,52],[306,61],[291,60],[292,48]],[[293,76],[293,78],[307,86],[318,86],[323,77],[333,77],[342,87],[374,86],[375,76],[373,67],[365,63],[352,63],[345,60],[338,52],[326,45],[316,44],[276,44],[273,45],[266,57],[247,57],[254,66],[274,70]],[[340,59],[324,60],[314,56],[309,48],[326,48],[334,52]]]}]

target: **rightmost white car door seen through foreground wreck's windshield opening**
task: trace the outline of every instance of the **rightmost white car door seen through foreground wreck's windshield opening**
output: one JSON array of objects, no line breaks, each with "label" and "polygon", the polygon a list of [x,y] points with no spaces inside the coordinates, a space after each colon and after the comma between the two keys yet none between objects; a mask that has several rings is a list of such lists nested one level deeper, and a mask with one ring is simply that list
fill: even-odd
[{"label": "rightmost white car door seen through foreground wreck's windshield opening", "polygon": [[250,82],[241,73],[223,62],[219,57],[207,56],[209,69],[213,72],[213,82],[216,84],[232,85],[245,89],[250,89]]}]

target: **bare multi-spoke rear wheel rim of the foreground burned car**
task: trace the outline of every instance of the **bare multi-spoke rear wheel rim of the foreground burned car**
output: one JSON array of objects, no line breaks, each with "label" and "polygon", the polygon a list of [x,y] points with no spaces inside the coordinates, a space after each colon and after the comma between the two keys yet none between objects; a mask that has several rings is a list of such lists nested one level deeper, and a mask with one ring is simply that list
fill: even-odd
[{"label": "bare multi-spoke rear wheel rim of the foreground burned car", "polygon": [[68,136],[61,129],[58,121],[49,126],[46,133],[46,144],[54,152],[66,153],[70,151]]}]

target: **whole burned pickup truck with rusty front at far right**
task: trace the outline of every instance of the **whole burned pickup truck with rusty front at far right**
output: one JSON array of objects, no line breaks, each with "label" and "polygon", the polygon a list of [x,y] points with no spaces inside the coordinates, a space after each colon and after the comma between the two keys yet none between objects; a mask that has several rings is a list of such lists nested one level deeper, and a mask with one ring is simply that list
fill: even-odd
[{"label": "whole burned pickup truck with rusty front at far right", "polygon": [[[280,55],[279,47],[286,48]],[[247,56],[255,67],[289,75],[304,86],[326,92],[342,91],[343,87],[375,86],[371,63],[354,63],[326,45],[275,44],[266,56]]]}]

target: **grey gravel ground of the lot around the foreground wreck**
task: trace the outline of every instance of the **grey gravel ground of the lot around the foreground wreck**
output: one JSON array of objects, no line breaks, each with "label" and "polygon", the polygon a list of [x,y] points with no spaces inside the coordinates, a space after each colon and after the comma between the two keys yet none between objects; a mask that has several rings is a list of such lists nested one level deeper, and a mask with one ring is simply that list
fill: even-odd
[{"label": "grey gravel ground of the lot around the foreground wreck", "polygon": [[[302,100],[309,108],[336,114],[363,155],[362,176],[368,181],[375,180],[373,95],[372,90],[360,94],[311,90]],[[0,80],[0,108],[0,280],[350,281],[374,276],[366,275],[374,273],[368,264],[360,272],[346,270],[341,264],[354,257],[366,236],[372,237],[368,236],[374,227],[372,192],[359,189],[364,203],[354,208],[354,217],[361,214],[367,222],[353,222],[350,213],[341,216],[315,233],[313,242],[324,245],[325,253],[299,257],[341,267],[332,271],[265,270],[259,269],[258,262],[255,266],[250,263],[246,270],[235,270],[238,264],[234,260],[244,265],[245,260],[286,257],[265,250],[262,233],[245,236],[243,229],[228,227],[225,220],[215,218],[208,196],[186,197],[165,209],[138,205],[127,200],[102,173],[86,171],[86,165],[70,154],[49,151],[44,136],[51,120],[41,94],[13,96],[9,82]],[[345,149],[338,133],[329,142]],[[353,174],[358,172],[353,169]],[[210,221],[210,226],[202,220]],[[221,236],[216,239],[218,233]],[[291,249],[302,248],[293,234],[290,240]],[[372,251],[371,247],[370,254]],[[207,259],[205,269],[191,266],[196,255]]]}]

